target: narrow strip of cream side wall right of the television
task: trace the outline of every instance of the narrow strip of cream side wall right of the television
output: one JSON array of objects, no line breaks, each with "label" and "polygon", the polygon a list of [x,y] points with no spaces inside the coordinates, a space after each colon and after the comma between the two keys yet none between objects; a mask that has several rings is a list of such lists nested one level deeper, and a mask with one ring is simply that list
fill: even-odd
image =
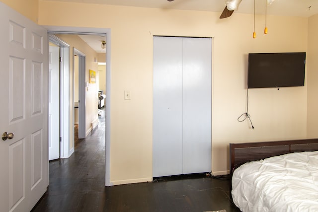
[{"label": "narrow strip of cream side wall right of the television", "polygon": [[318,15],[309,18],[308,29],[308,112],[307,136],[318,138]]}]

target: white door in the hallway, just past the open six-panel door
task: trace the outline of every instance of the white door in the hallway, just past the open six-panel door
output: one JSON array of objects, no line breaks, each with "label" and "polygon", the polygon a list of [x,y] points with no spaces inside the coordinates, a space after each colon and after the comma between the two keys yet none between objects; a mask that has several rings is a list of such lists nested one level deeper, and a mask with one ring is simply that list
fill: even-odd
[{"label": "white door in the hallway, just past the open six-panel door", "polygon": [[49,160],[60,157],[60,47],[49,47]]}]

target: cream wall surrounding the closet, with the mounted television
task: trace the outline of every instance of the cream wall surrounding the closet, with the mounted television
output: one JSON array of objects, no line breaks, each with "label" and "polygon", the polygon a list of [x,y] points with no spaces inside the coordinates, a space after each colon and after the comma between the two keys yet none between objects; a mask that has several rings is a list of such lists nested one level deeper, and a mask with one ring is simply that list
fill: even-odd
[{"label": "cream wall surrounding the closet, with the mounted television", "polygon": [[[307,87],[250,89],[247,54],[306,52],[308,19],[39,1],[43,25],[111,28],[111,183],[152,179],[153,35],[213,37],[212,171],[228,173],[230,142],[306,138]],[[87,11],[94,11],[89,12]],[[81,14],[81,15],[78,15]],[[76,18],[75,18],[76,17]],[[132,100],[124,100],[130,90]]]}]

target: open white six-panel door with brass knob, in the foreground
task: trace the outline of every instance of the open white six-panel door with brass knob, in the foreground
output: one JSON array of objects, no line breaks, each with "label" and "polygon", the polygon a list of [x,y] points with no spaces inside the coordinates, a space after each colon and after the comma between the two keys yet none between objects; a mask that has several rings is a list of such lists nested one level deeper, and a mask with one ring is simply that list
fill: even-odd
[{"label": "open white six-panel door with brass knob, in the foreground", "polygon": [[48,186],[47,31],[2,2],[0,28],[0,210],[25,212]]}]

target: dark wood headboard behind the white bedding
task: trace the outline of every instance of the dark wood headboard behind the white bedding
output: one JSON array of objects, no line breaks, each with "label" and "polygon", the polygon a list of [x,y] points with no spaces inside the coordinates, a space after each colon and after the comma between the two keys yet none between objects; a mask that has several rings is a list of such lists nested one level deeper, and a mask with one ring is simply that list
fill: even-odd
[{"label": "dark wood headboard behind the white bedding", "polygon": [[246,162],[292,152],[317,151],[318,139],[230,143],[230,175]]}]

